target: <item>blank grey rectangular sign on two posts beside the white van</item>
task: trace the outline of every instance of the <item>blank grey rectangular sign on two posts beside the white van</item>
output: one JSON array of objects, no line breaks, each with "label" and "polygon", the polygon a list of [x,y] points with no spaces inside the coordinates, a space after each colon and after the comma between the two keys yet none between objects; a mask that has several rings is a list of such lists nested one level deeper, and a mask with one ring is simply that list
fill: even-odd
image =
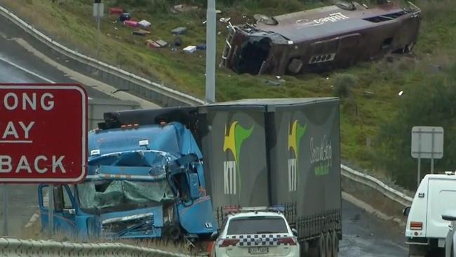
[{"label": "blank grey rectangular sign on two posts beside the white van", "polygon": [[443,128],[414,126],[412,128],[412,157],[418,159],[417,187],[419,187],[421,159],[431,159],[431,174],[434,174],[434,159],[443,157]]}]

